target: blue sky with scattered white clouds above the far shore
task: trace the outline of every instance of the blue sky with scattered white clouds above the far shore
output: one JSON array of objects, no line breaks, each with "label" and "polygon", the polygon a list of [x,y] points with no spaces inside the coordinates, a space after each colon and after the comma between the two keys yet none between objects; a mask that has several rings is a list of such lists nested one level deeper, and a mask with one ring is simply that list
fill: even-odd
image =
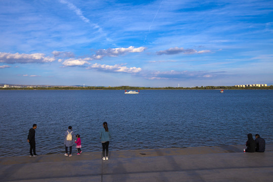
[{"label": "blue sky with scattered white clouds above the far shore", "polygon": [[0,1],[0,83],[273,84],[273,1]]}]

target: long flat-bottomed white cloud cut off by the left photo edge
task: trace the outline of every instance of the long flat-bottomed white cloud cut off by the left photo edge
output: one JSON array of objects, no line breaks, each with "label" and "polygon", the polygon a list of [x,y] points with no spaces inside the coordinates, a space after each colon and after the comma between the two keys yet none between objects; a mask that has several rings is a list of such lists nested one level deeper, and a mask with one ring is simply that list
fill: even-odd
[{"label": "long flat-bottomed white cloud cut off by the left photo edge", "polygon": [[15,64],[15,63],[48,63],[55,61],[55,58],[45,57],[42,53],[35,54],[11,54],[0,53],[0,62]]}]

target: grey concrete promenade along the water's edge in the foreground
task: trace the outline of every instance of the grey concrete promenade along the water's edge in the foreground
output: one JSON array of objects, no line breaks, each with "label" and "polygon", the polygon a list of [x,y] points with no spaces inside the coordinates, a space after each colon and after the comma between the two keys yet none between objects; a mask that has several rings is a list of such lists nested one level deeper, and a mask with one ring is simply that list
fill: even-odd
[{"label": "grey concrete promenade along the water's edge in the foreground", "polygon": [[0,158],[0,181],[273,181],[273,144],[192,147]]}]

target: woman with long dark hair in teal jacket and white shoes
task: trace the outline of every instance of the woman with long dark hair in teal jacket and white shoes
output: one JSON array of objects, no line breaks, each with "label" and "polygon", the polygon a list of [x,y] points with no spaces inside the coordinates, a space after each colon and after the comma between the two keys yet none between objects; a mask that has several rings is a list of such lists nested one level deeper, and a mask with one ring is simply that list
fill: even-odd
[{"label": "woman with long dark hair in teal jacket and white shoes", "polygon": [[[103,146],[103,160],[108,160],[108,147],[109,147],[109,142],[111,139],[111,134],[110,131],[108,129],[108,124],[107,122],[103,123],[103,128],[101,129],[101,133],[100,133],[100,139],[102,142],[102,146]],[[105,150],[106,150],[106,156],[105,156]]]}]

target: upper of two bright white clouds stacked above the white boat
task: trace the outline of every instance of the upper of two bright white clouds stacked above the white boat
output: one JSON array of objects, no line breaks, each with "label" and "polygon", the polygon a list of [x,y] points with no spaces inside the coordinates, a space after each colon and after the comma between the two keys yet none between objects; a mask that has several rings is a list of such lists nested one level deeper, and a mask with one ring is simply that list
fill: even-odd
[{"label": "upper of two bright white clouds stacked above the white boat", "polygon": [[128,48],[109,48],[107,50],[100,49],[96,51],[96,55],[94,55],[93,58],[102,59],[105,56],[116,57],[118,55],[123,55],[125,53],[141,53],[146,49],[147,48],[145,47],[134,48],[133,46],[130,46]]}]

